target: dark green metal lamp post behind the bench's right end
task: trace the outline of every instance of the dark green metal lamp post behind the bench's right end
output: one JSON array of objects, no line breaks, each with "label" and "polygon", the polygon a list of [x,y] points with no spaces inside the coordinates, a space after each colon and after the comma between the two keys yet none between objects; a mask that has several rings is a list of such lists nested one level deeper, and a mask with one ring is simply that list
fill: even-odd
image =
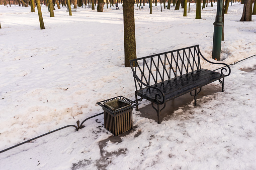
[{"label": "dark green metal lamp post behind the bench's right end", "polygon": [[214,32],[213,32],[213,46],[212,46],[212,58],[220,60],[220,52],[221,52],[221,37],[222,37],[222,26],[224,23],[222,22],[222,6],[223,0],[217,0],[217,15],[215,18]]}]

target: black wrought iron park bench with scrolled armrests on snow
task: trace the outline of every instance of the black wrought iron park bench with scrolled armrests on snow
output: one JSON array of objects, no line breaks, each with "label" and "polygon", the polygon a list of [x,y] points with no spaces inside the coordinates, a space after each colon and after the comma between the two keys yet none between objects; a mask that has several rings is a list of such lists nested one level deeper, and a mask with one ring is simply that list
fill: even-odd
[{"label": "black wrought iron park bench with scrolled armrests on snow", "polygon": [[[224,67],[220,73],[202,69],[200,56],[211,64],[221,64]],[[223,92],[224,78],[231,72],[227,64],[207,60],[200,52],[199,45],[130,60],[130,65],[136,88],[136,102],[143,98],[149,100],[157,113],[158,123],[160,112],[167,101],[190,92],[196,105],[198,93],[209,83],[219,80]],[[195,91],[194,94],[192,91]],[[160,108],[162,104],[164,106]],[[138,111],[138,106],[136,110]]]}]

